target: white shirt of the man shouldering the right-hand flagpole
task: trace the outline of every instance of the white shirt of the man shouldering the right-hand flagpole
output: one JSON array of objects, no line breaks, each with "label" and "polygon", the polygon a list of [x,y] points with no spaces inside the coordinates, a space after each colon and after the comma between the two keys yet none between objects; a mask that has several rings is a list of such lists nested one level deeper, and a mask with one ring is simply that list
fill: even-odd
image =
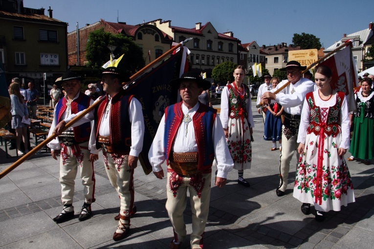
[{"label": "white shirt of the man shouldering the right-hand flagpole", "polygon": [[[271,92],[278,90],[285,85],[288,80],[283,80]],[[276,94],[275,101],[284,107],[288,114],[301,115],[305,96],[308,92],[314,91],[314,82],[306,78],[301,78],[295,84],[290,83],[285,89]]]}]

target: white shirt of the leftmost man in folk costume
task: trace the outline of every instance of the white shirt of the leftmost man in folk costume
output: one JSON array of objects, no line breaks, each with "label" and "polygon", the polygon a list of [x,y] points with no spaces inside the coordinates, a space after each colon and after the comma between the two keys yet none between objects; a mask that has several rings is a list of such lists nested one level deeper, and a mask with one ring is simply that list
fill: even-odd
[{"label": "white shirt of the leftmost man in folk costume", "polygon": [[[75,95],[75,97],[72,99],[76,99],[79,97],[79,94],[83,94],[81,92],[78,92],[77,95]],[[68,101],[67,99],[67,95],[64,96],[64,98],[66,98],[66,100]],[[90,102],[89,102],[90,105],[93,104],[93,100],[91,99]],[[52,136],[53,134],[53,130],[55,129],[57,123],[58,123],[58,116],[57,116],[57,112],[56,112],[56,108],[57,108],[57,105],[55,106],[55,109],[54,109],[54,112],[53,112],[53,121],[52,121],[52,124],[51,124],[51,128],[49,128],[49,133],[48,133],[48,136]],[[71,109],[70,109],[70,106],[67,106],[64,113],[61,114],[61,119],[62,120],[66,120],[66,119],[69,119],[72,120],[77,114],[72,114],[71,113]],[[93,117],[93,113],[92,113],[92,117]],[[79,121],[78,121],[79,122]],[[76,122],[74,123],[74,125],[72,127],[69,127],[68,129],[66,129],[66,131],[71,131],[73,130],[73,127],[75,126],[79,126],[81,124],[84,124],[86,122],[90,122],[91,123],[91,130],[94,130],[92,129],[93,126],[93,121],[91,120],[88,120],[86,119],[84,122]],[[67,122],[66,122],[67,123]],[[90,138],[91,139],[91,138]],[[60,144],[60,139],[58,136],[56,136],[55,139],[53,139],[52,141],[50,141],[47,146],[49,148],[51,148],[51,150],[61,150],[61,144]],[[90,153],[92,154],[99,154],[99,150],[96,149],[96,147],[93,147],[92,149],[88,148],[90,150]]]}]

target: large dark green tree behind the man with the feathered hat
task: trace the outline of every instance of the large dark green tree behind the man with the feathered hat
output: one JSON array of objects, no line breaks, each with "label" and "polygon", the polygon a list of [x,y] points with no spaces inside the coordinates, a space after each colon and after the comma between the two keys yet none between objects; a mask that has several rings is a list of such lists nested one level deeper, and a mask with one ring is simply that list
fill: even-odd
[{"label": "large dark green tree behind the man with the feathered hat", "polygon": [[145,66],[142,49],[136,45],[131,38],[124,34],[112,34],[105,32],[104,28],[90,32],[86,47],[86,59],[88,67],[99,69],[110,59],[110,50],[108,45],[116,46],[113,51],[114,58],[122,58],[124,68],[129,74],[133,74]]}]

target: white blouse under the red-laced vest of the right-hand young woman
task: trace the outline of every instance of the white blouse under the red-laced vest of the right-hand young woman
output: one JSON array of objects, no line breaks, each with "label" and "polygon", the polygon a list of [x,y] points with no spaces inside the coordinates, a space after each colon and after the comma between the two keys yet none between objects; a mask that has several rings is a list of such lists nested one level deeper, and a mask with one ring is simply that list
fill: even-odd
[{"label": "white blouse under the red-laced vest of the right-hand young woman", "polygon": [[[321,107],[329,108],[336,105],[336,93],[331,96],[328,101],[324,101],[320,98],[318,90],[313,92],[313,97],[316,106],[320,109]],[[342,130],[342,141],[339,148],[349,149],[350,147],[350,119],[348,114],[348,104],[346,96],[344,96],[342,109],[340,113],[341,130]],[[303,111],[301,113],[301,120],[299,126],[299,134],[297,135],[297,142],[304,143],[307,136],[307,129],[310,123],[310,108],[307,99],[304,100]]]}]

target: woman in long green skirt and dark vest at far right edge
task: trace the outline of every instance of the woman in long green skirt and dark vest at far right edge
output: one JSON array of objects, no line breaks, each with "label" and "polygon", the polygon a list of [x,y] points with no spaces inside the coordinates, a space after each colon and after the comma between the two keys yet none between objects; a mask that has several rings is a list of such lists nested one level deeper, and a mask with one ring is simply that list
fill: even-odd
[{"label": "woman in long green skirt and dark vest at far right edge", "polygon": [[[369,160],[374,157],[374,91],[372,91],[372,79],[364,78],[361,81],[362,91],[355,95],[357,112],[354,113],[353,136],[350,147],[351,157],[364,160],[369,164]],[[351,114],[353,116],[353,114]],[[351,120],[352,120],[351,116]]]}]

